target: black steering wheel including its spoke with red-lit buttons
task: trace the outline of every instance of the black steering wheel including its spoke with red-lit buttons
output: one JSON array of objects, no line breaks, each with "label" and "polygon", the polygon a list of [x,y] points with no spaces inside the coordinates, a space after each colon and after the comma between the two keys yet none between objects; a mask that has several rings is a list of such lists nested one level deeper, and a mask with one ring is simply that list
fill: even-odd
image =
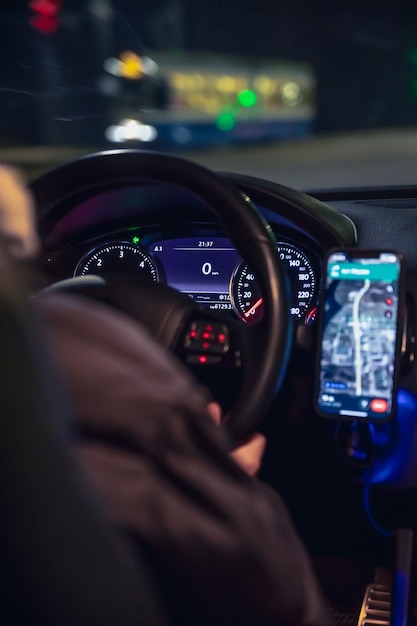
[{"label": "black steering wheel including its spoke with red-lit buttons", "polygon": [[[51,207],[42,189],[68,188],[68,167],[79,190],[93,190],[103,181],[127,184],[165,183],[205,200],[242,258],[250,265],[263,294],[263,316],[246,326],[221,313],[203,310],[188,296],[161,284],[123,281],[115,277],[70,279],[56,288],[98,298],[132,315],[193,371],[210,367],[242,372],[240,391],[224,425],[234,442],[246,439],[265,416],[285,374],[291,332],[287,282],[273,233],[243,193],[210,170],[182,158],[126,150],[85,157],[46,174],[33,186],[38,207]],[[116,166],[116,167],[115,167]]]}]

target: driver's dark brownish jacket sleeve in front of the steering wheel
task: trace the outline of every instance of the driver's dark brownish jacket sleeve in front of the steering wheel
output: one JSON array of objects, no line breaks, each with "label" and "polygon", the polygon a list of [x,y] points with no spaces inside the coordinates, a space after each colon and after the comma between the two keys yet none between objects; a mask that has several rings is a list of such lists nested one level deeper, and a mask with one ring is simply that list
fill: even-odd
[{"label": "driver's dark brownish jacket sleeve in front of the steering wheel", "polygon": [[229,458],[206,392],[127,318],[68,297],[42,307],[82,463],[147,558],[172,623],[324,624],[282,499]]}]

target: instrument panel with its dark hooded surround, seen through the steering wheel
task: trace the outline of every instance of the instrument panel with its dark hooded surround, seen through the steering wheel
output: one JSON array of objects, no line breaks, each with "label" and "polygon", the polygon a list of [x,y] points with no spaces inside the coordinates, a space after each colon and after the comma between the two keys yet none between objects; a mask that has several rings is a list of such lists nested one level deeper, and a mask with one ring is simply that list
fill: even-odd
[{"label": "instrument panel with its dark hooded surround, seen through the steering wheel", "polygon": [[[268,216],[287,270],[292,322],[296,327],[311,325],[317,316],[321,261],[328,244],[314,229],[312,234],[308,224],[306,228],[256,204]],[[179,188],[149,184],[101,188],[58,203],[52,219],[48,215],[41,222],[42,264],[50,282],[89,274],[147,277],[242,324],[262,319],[262,293],[250,265],[201,199]]]}]

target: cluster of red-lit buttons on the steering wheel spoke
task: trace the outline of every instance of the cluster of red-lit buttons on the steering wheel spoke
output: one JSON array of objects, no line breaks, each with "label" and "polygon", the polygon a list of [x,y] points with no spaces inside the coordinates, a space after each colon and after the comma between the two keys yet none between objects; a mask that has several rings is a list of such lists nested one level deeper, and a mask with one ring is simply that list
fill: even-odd
[{"label": "cluster of red-lit buttons on the steering wheel spoke", "polygon": [[203,355],[226,354],[229,351],[229,329],[225,324],[192,322],[185,334],[184,348]]}]

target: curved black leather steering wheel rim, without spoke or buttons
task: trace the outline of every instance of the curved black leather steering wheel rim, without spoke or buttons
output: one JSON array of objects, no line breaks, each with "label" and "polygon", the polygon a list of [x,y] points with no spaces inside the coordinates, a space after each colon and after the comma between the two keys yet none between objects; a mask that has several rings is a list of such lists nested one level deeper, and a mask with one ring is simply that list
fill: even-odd
[{"label": "curved black leather steering wheel rim, without spoke or buttons", "polygon": [[[118,171],[113,167],[115,161],[119,164]],[[142,150],[102,152],[46,174],[32,185],[41,219],[47,218],[55,208],[45,206],[41,190],[48,187],[51,193],[52,186],[52,196],[60,197],[62,202],[73,193],[74,178],[77,191],[97,190],[101,179],[106,183],[170,184],[195,194],[209,205],[237,251],[256,274],[263,294],[264,313],[260,324],[247,329],[255,339],[251,345],[256,346],[253,355],[256,365],[249,368],[227,419],[227,430],[232,438],[244,440],[255,430],[276,396],[285,374],[291,341],[286,277],[269,225],[245,194],[212,171],[183,158]]]}]

